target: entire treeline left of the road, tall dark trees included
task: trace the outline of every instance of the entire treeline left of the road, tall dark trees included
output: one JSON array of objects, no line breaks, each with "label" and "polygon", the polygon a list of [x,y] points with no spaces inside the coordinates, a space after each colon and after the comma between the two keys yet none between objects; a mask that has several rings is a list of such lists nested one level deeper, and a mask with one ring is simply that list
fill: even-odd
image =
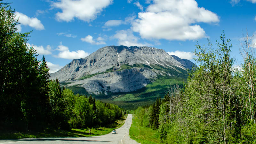
[{"label": "entire treeline left of the road, tall dark trees included", "polygon": [[0,2],[1,130],[104,126],[124,114],[117,105],[74,95],[61,90],[58,80],[49,80],[44,56],[37,60],[34,48],[26,45],[30,32],[17,32],[14,17],[9,4]]}]

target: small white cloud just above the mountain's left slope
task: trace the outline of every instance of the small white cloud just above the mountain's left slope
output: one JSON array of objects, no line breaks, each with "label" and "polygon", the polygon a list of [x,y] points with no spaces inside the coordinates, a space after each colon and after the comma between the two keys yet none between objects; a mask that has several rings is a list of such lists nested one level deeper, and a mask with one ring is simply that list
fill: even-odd
[{"label": "small white cloud just above the mountain's left slope", "polygon": [[63,58],[63,59],[79,59],[79,58],[84,58],[89,55],[89,53],[83,51],[83,50],[77,50],[77,51],[72,51],[70,52],[68,47],[60,45],[57,48],[60,53],[58,55],[54,55],[55,57],[58,58]]}]

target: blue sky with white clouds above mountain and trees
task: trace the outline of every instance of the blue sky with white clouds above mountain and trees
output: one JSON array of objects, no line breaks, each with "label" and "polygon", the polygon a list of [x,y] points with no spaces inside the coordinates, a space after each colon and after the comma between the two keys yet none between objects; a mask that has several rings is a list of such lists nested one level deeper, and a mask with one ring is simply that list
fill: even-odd
[{"label": "blue sky with white clouds above mountain and trees", "polygon": [[[50,73],[105,46],[148,46],[196,62],[196,43],[216,47],[222,30],[235,66],[243,33],[256,34],[256,0],[4,0],[12,3],[18,32]],[[256,43],[256,38],[252,38]],[[255,46],[256,48],[256,46]]]}]

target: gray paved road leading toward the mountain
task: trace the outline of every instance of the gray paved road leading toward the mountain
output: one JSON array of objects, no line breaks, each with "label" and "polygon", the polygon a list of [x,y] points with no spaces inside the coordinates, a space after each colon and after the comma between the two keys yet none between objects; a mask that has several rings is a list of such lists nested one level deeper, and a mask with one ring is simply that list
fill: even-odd
[{"label": "gray paved road leading toward the mountain", "polygon": [[33,138],[33,139],[15,139],[15,140],[0,140],[0,144],[10,143],[10,144],[32,144],[32,143],[40,143],[40,144],[48,144],[48,143],[64,143],[64,144],[79,144],[79,143],[113,143],[113,144],[122,144],[123,138],[128,132],[130,126],[132,124],[132,115],[128,114],[125,123],[120,128],[116,129],[116,134],[108,133],[101,136],[92,136],[92,137],[81,137],[81,138]]}]

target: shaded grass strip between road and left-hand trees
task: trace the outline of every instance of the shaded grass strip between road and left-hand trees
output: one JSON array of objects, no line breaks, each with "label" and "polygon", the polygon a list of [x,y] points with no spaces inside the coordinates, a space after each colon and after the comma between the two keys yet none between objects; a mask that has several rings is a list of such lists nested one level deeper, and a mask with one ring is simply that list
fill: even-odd
[{"label": "shaded grass strip between road and left-hand trees", "polygon": [[21,139],[21,138],[43,138],[43,137],[88,137],[88,136],[104,135],[104,134],[110,133],[114,128],[121,127],[124,124],[126,117],[127,115],[124,115],[120,119],[116,119],[114,123],[107,125],[106,127],[92,128],[91,135],[89,134],[89,128],[71,129],[68,131],[47,128],[42,132],[0,131],[0,140],[1,139]]}]

